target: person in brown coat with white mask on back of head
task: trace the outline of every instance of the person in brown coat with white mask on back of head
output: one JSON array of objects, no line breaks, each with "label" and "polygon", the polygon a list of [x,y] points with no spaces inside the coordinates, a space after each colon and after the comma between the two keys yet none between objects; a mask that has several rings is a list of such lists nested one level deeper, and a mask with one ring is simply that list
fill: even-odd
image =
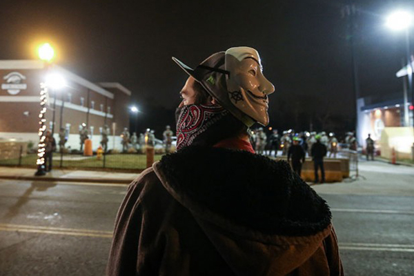
[{"label": "person in brown coat with white mask on back of head", "polygon": [[257,52],[230,48],[194,70],[175,61],[190,75],[177,152],[128,187],[107,275],[343,275],[326,201],[250,145],[274,91]]}]

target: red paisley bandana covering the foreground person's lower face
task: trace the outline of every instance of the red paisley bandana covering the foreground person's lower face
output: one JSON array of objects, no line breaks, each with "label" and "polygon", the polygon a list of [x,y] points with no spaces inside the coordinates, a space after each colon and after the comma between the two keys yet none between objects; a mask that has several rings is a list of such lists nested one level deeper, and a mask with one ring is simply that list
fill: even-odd
[{"label": "red paisley bandana covering the foreground person's lower face", "polygon": [[195,137],[228,114],[221,106],[191,104],[179,108],[177,118],[177,150],[190,146]]}]

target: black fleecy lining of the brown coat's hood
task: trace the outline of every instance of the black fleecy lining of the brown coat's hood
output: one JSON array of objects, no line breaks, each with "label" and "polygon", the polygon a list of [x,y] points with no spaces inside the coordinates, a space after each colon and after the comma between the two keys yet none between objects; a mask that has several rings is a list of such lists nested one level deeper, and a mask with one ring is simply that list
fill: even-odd
[{"label": "black fleecy lining of the brown coat's hood", "polygon": [[286,161],[244,150],[190,146],[165,155],[155,170],[184,206],[196,202],[199,210],[244,228],[305,236],[331,223],[326,201]]}]

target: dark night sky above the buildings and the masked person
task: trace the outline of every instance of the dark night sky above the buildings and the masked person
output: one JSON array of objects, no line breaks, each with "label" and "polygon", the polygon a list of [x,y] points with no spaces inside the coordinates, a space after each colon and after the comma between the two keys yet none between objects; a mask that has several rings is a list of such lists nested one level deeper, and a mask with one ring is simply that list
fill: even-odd
[{"label": "dark night sky above the buildings and the masked person", "polygon": [[[355,1],[362,96],[402,91],[395,72],[405,55],[404,33],[387,30],[384,17],[393,7],[414,10],[413,2]],[[157,130],[174,124],[187,77],[172,56],[197,66],[213,52],[250,46],[276,88],[270,125],[304,130],[312,121],[314,128],[339,130],[355,117],[348,21],[341,15],[346,3],[2,0],[0,59],[34,59],[36,43],[51,41],[60,66],[130,89],[142,111],[139,127]]]}]

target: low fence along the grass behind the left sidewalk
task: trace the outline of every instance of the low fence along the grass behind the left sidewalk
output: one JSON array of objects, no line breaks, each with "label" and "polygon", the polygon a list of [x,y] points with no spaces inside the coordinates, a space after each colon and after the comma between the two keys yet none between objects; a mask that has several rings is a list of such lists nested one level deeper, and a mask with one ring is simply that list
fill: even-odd
[{"label": "low fence along the grass behind the left sidewalk", "polygon": [[[33,150],[26,152],[24,146],[14,148],[13,155],[3,155],[0,157],[0,166],[24,166],[36,168],[37,152]],[[156,149],[154,161],[161,159],[165,154],[163,149]],[[118,150],[108,150],[98,155],[92,152],[91,156],[83,155],[78,150],[57,151],[53,153],[52,168],[78,168],[78,169],[116,169],[116,170],[144,170],[147,166],[146,149],[119,152]]]}]

